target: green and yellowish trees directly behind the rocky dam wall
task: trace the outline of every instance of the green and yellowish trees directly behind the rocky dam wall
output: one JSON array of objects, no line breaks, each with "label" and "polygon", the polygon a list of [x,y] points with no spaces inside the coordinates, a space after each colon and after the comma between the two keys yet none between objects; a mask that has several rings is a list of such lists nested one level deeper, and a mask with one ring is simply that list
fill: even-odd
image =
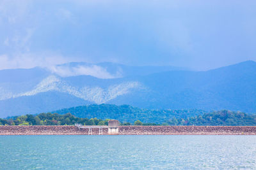
[{"label": "green and yellowish trees directly behind the rocky dam wall", "polygon": [[[79,118],[71,113],[60,115],[58,113],[40,113],[38,115],[22,115],[12,118],[0,118],[0,125],[108,125],[108,118]],[[256,115],[248,115],[240,111],[214,111],[195,117],[173,117],[166,122],[147,123],[120,122],[120,125],[256,125]]]}]

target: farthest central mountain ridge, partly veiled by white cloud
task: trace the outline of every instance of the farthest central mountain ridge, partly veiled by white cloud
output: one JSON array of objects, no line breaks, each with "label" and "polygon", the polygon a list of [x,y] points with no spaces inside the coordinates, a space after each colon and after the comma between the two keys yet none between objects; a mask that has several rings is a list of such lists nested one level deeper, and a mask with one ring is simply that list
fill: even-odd
[{"label": "farthest central mountain ridge, partly veiled by white cloud", "polygon": [[145,76],[147,74],[163,71],[188,70],[184,67],[174,66],[126,66],[113,62],[100,62],[90,64],[86,62],[69,62],[50,68],[52,73],[60,76],[90,75],[96,78],[121,78],[126,76]]}]

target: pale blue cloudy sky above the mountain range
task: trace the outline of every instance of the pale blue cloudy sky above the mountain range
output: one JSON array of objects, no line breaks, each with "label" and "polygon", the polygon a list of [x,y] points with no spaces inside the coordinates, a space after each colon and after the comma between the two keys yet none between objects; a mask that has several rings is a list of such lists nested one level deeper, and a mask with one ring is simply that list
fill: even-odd
[{"label": "pale blue cloudy sky above the mountain range", "polygon": [[256,1],[0,1],[0,69],[256,61]]}]

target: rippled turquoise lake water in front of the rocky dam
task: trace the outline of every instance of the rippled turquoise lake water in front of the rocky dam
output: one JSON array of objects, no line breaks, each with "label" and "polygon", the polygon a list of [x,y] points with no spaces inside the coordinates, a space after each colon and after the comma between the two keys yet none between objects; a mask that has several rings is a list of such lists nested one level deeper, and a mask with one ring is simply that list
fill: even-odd
[{"label": "rippled turquoise lake water in front of the rocky dam", "polygon": [[256,136],[0,136],[0,169],[256,169]]}]

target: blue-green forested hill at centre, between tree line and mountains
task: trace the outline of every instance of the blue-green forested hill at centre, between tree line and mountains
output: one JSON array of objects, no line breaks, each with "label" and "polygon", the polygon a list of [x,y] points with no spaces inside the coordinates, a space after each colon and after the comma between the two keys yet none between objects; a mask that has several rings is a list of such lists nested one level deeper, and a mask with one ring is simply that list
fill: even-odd
[{"label": "blue-green forested hill at centre, between tree line and mountains", "polygon": [[170,118],[188,118],[195,115],[203,115],[203,110],[147,110],[129,105],[116,106],[115,104],[92,104],[78,106],[63,110],[51,111],[51,113],[71,113],[80,118],[111,118],[120,122],[134,122],[140,119],[142,122],[163,123]]}]

